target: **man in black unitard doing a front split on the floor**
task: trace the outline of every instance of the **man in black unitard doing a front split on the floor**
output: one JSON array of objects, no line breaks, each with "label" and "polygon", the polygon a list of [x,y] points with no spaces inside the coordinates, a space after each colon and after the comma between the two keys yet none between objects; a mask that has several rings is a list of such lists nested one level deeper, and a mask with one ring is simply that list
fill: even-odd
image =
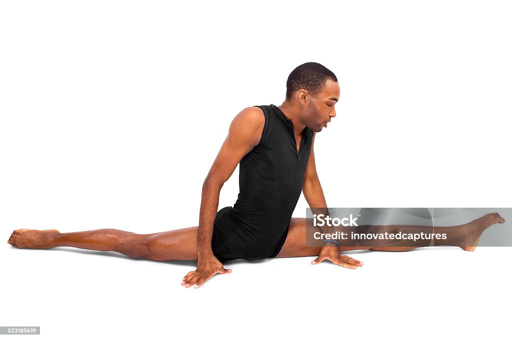
[{"label": "man in black unitard doing a front split on the floor", "polygon": [[[142,235],[115,229],[73,233],[21,229],[12,233],[8,243],[19,248],[73,246],[153,260],[197,260],[197,269],[188,272],[181,284],[198,288],[217,273],[230,273],[231,269],[225,269],[222,263],[229,259],[317,256],[312,264],[330,260],[355,269],[363,263],[339,252],[408,251],[434,245],[473,251],[488,226],[504,222],[497,213],[490,213],[453,227],[363,225],[365,231],[372,228],[390,232],[399,226],[418,233],[449,231],[450,236],[435,242],[419,240],[413,245],[397,241],[393,245],[348,246],[329,239],[322,245],[306,245],[306,219],[291,215],[301,192],[312,210],[327,208],[316,174],[313,145],[316,133],[336,117],[339,85],[325,66],[308,62],[291,72],[286,86],[286,100],[280,106],[247,107],[233,119],[204,180],[199,226]],[[238,199],[233,207],[217,212],[220,190],[238,164]]]}]

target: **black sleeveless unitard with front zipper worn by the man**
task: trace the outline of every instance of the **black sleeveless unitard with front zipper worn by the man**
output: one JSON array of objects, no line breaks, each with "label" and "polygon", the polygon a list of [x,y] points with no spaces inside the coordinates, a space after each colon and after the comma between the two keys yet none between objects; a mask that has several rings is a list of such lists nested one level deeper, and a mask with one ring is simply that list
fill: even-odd
[{"label": "black sleeveless unitard with front zipper worn by the man", "polygon": [[273,104],[255,106],[265,114],[260,142],[240,161],[237,202],[215,217],[211,248],[220,261],[277,256],[302,192],[313,132],[304,128],[297,153],[283,111]]}]

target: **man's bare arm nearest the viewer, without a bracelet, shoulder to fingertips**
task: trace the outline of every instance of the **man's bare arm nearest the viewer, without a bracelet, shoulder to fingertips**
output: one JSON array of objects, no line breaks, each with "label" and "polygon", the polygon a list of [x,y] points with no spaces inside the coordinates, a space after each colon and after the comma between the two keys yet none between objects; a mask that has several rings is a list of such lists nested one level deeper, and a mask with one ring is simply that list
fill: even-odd
[{"label": "man's bare arm nearest the viewer, without a bracelet, shoulder to fingertips", "polygon": [[214,221],[219,208],[219,195],[222,186],[237,168],[240,160],[260,141],[265,116],[258,107],[247,107],[231,122],[228,135],[211,166],[203,183],[201,209],[199,212],[198,267],[185,276],[182,285],[186,287],[197,283],[199,287],[213,275],[225,274],[222,263],[211,249]]}]

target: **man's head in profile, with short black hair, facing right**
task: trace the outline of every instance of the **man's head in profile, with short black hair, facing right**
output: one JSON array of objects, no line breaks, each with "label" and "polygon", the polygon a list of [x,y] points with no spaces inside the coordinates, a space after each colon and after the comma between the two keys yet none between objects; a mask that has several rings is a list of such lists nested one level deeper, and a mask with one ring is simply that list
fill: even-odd
[{"label": "man's head in profile, with short black hair, facing right", "polygon": [[286,103],[297,109],[298,119],[315,132],[336,117],[338,79],[327,67],[308,62],[295,67],[286,81]]}]

